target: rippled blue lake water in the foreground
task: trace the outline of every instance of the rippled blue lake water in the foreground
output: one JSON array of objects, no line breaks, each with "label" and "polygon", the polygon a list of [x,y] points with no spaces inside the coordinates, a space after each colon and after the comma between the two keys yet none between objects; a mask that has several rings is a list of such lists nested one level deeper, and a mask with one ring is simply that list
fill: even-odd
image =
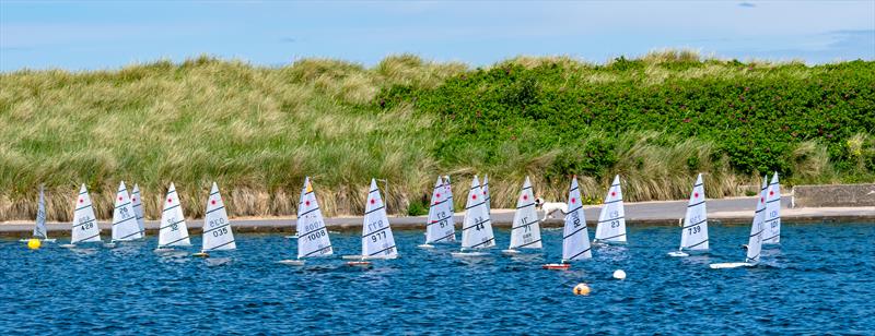
[{"label": "rippled blue lake water in the foreground", "polygon": [[[666,256],[677,227],[632,227],[628,245],[596,249],[568,272],[540,269],[560,257],[555,229],[544,254],[495,249],[470,261],[448,247],[417,249],[421,232],[398,231],[401,259],[366,269],[338,259],[278,264],[295,248],[281,236],[240,235],[237,251],[207,260],[156,254],[154,237],[92,251],[4,239],[0,334],[875,333],[875,224],[784,224],[765,265],[737,269],[708,264],[742,261],[749,228],[709,229],[707,256]],[[497,233],[506,247],[509,232]],[[359,253],[352,232],[331,240],[338,254]],[[626,280],[611,278],[617,268]],[[593,292],[573,296],[578,283]]]}]

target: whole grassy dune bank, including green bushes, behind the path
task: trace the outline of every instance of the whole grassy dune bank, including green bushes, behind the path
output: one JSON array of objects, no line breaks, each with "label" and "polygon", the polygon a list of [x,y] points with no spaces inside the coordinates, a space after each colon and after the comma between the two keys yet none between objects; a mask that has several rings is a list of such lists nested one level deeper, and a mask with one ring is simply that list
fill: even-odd
[{"label": "whole grassy dune bank, including green bushes, behind the path", "polygon": [[[790,184],[872,181],[873,73],[874,62],[675,51],[600,65],[517,58],[469,69],[397,56],[371,69],[261,68],[201,57],[3,73],[0,220],[32,218],[39,183],[49,219],[69,220],[79,183],[110,217],[119,180],[140,184],[151,218],[171,181],[194,217],[213,180],[232,216],[294,214],[304,176],[329,215],[360,213],[371,177],[388,181],[393,213],[420,213],[439,173],[457,194],[489,173],[495,207],[514,204],[526,175],[561,200],[576,173],[592,203],[614,173],[633,201],[686,197],[698,171],[711,197],[744,194],[770,170]],[[739,94],[746,103],[727,100]],[[719,122],[726,111],[732,122]]]}]

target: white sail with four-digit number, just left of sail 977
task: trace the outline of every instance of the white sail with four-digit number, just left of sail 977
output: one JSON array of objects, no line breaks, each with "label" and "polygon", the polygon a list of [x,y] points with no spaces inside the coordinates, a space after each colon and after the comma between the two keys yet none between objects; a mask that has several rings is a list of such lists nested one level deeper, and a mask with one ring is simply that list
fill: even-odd
[{"label": "white sail with four-digit number, just left of sail 977", "polygon": [[301,201],[298,204],[298,259],[310,256],[331,255],[334,249],[328,239],[328,230],[316,202],[316,193],[310,183],[310,178],[304,179],[301,189]]}]

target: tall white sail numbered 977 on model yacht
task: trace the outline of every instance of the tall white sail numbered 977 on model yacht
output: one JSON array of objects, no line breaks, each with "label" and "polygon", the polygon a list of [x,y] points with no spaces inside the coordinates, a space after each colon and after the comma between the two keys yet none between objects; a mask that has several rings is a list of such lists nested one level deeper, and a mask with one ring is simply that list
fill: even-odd
[{"label": "tall white sail numbered 977 on model yacht", "polygon": [[371,189],[364,204],[364,223],[362,224],[362,257],[393,259],[398,256],[395,237],[392,236],[386,206],[380,195],[376,181],[371,179]]}]

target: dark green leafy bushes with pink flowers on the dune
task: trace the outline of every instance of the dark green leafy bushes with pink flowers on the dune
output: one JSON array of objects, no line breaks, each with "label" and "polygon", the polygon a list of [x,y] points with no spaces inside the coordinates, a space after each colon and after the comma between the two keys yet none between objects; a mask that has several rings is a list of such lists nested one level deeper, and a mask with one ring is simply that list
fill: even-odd
[{"label": "dark green leafy bushes with pink flowers on the dune", "polygon": [[[704,67],[719,68],[713,73]],[[649,70],[650,68],[650,70]],[[654,70],[655,69],[655,70]],[[660,81],[649,71],[663,71]],[[599,80],[603,79],[603,80]],[[388,87],[376,98],[386,107],[410,103],[438,113],[448,134],[438,157],[454,166],[460,148],[479,148],[485,165],[500,165],[509,144],[522,153],[557,149],[549,175],[602,175],[617,158],[612,136],[591,134],[658,131],[674,144],[698,137],[716,144],[739,172],[793,173],[795,145],[827,145],[839,171],[855,169],[847,141],[875,130],[875,62],[805,67],[677,57],[649,64],[618,58],[605,67],[568,62],[526,68],[512,62],[475,70],[433,89]],[[699,158],[687,160],[690,170]],[[868,166],[866,166],[868,167]]]}]

